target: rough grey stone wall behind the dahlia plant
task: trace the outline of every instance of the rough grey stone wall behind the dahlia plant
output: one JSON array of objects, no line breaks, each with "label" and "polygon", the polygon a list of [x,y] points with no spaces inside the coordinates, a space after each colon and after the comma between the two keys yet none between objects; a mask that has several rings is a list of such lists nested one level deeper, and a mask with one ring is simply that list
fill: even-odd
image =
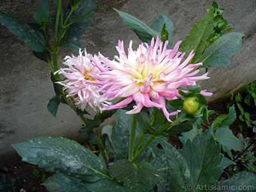
[{"label": "rough grey stone wall behind the dahlia plant", "polygon": [[[129,13],[142,20],[148,26],[163,13],[174,24],[173,44],[184,40],[193,23],[204,17],[211,1],[193,0],[96,0],[102,10],[93,15],[90,28],[81,39],[87,51],[113,58],[117,51],[118,40],[124,40],[125,47],[133,40],[134,49],[141,43],[129,27],[122,22],[113,8]],[[24,22],[33,22],[33,13],[40,0],[1,0],[0,11],[19,17]],[[55,6],[48,1],[54,13]],[[68,3],[65,0],[64,3]],[[203,88],[213,92],[209,99],[214,102],[227,97],[230,90],[239,90],[244,84],[256,79],[255,65],[255,29],[256,1],[217,1],[220,8],[225,8],[223,17],[228,20],[228,27],[237,26],[232,31],[244,33],[243,47],[232,57],[231,64],[222,68],[211,68],[211,79],[200,83]],[[68,106],[61,105],[57,117],[47,111],[47,103],[54,96],[47,63],[33,56],[23,42],[0,26],[1,44],[1,106],[0,106],[0,165],[19,161],[19,156],[12,143],[19,143],[38,136],[63,136],[82,142],[84,138],[78,131],[83,124]],[[61,49],[59,62],[66,55],[77,51]],[[93,111],[92,111],[93,112]],[[94,113],[94,112],[93,112]],[[113,124],[111,119],[108,123]]]}]

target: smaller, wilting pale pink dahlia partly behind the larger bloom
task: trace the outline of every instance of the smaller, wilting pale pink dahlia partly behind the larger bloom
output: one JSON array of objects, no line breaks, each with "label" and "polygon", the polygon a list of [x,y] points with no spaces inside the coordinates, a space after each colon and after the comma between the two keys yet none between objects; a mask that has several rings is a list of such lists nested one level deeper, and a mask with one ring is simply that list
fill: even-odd
[{"label": "smaller, wilting pale pink dahlia partly behind the larger bloom", "polygon": [[[83,56],[84,52],[84,56]],[[88,75],[88,73],[99,74],[100,70],[98,67],[92,64],[93,61],[99,62],[99,57],[92,56],[87,54],[87,52],[79,50],[79,56],[66,56],[63,62],[64,65],[67,65],[68,68],[61,68],[56,73],[63,74],[65,81],[58,82],[63,85],[63,90],[67,92],[67,97],[71,97],[76,106],[84,110],[87,105],[91,106],[93,109],[95,107],[101,108],[104,102],[99,102],[99,97],[102,92],[95,92],[95,89],[98,88],[95,85],[90,84],[90,81],[96,81]],[[109,104],[107,102],[107,104]]]}]

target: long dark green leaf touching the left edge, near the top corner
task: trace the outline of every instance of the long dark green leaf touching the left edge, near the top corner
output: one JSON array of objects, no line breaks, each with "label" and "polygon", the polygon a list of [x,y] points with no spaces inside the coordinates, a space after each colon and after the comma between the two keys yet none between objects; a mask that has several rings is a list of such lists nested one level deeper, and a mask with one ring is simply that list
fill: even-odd
[{"label": "long dark green leaf touching the left edge, near the top corner", "polygon": [[45,38],[42,38],[40,32],[35,30],[33,27],[12,15],[2,12],[0,12],[0,22],[2,22],[3,26],[6,26],[11,33],[16,35],[19,40],[30,47],[32,51],[45,51],[46,40]]}]

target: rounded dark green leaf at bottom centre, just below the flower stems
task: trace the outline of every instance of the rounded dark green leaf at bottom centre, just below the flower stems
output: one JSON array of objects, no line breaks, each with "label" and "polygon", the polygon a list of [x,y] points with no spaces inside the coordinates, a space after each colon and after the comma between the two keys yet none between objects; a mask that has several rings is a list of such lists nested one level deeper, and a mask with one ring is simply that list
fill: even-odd
[{"label": "rounded dark green leaf at bottom centre, just below the flower stems", "polygon": [[109,173],[112,177],[122,180],[125,188],[132,192],[148,191],[163,179],[161,173],[145,161],[131,163],[121,159],[111,166]]}]

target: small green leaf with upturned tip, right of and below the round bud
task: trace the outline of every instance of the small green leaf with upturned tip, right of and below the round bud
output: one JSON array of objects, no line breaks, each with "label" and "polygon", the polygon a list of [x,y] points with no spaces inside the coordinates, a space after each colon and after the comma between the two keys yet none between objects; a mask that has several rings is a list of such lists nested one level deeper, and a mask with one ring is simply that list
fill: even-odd
[{"label": "small green leaf with upturned tip, right of and below the round bud", "polygon": [[229,108],[228,114],[220,115],[212,122],[214,130],[229,127],[236,120],[235,106]]}]

